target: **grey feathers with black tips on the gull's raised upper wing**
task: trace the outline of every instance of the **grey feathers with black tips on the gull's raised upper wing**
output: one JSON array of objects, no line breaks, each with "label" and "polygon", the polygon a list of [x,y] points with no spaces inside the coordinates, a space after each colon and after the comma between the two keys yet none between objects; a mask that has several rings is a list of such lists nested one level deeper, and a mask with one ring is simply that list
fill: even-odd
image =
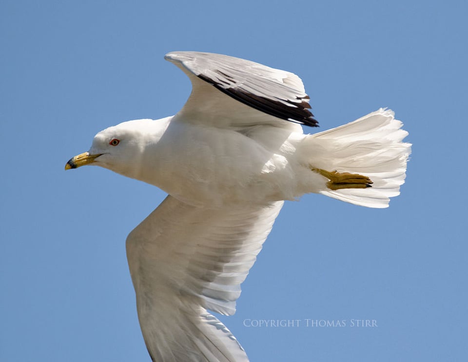
[{"label": "grey feathers with black tips on the gull's raised upper wing", "polygon": [[[310,111],[309,96],[305,93],[304,85],[301,79],[291,72],[212,53],[173,52],[166,54],[165,59],[189,75],[194,86],[192,96],[197,102],[209,100],[208,96],[203,99],[197,96],[196,92],[201,91],[197,89],[192,74],[253,109],[281,120],[318,126]],[[188,103],[190,101],[191,99]],[[190,106],[191,110],[195,108],[194,104]],[[217,111],[215,107],[211,109]],[[203,107],[203,111],[206,113],[209,109]]]}]

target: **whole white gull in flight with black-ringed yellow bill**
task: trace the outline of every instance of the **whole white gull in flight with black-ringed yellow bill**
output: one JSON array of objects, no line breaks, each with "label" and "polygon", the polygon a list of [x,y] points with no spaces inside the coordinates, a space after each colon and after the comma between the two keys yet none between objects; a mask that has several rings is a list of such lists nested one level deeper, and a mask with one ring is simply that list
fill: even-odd
[{"label": "whole white gull in flight with black-ringed yellow bill", "polygon": [[301,79],[227,55],[165,58],[192,81],[172,117],[99,132],[65,169],[93,164],[169,194],[127,237],[143,337],[153,361],[248,361],[207,309],[232,315],[240,284],[283,200],[319,193],[383,208],[405,180],[410,144],[391,110],[316,126]]}]

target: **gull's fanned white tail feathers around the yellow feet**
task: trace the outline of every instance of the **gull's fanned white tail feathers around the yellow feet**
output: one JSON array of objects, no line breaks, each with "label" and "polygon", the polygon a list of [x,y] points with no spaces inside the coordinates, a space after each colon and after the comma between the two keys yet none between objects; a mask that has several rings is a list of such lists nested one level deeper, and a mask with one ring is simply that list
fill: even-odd
[{"label": "gull's fanned white tail feathers around the yellow feet", "polygon": [[[403,139],[408,132],[390,109],[379,109],[346,125],[307,136],[312,170],[368,177],[363,188],[333,189],[319,193],[360,206],[385,208],[390,197],[400,194],[405,182],[411,144]],[[341,184],[342,185],[342,184]]]}]

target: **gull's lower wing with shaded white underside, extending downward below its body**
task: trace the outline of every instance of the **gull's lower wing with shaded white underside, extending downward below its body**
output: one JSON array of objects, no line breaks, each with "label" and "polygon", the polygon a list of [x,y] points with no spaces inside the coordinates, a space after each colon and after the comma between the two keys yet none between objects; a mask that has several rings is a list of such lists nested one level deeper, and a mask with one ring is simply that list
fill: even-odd
[{"label": "gull's lower wing with shaded white underside, extending downward below its body", "polygon": [[168,196],[127,238],[137,310],[154,361],[247,361],[206,309],[231,315],[283,201],[209,210]]}]

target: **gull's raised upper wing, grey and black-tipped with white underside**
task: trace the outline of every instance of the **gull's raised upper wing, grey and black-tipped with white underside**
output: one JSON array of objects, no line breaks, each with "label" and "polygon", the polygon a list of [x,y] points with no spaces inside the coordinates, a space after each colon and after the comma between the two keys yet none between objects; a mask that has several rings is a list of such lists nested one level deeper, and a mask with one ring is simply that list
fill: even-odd
[{"label": "gull's raised upper wing, grey and black-tipped with white underside", "polygon": [[217,127],[318,125],[304,85],[293,73],[212,53],[172,52],[165,59],[192,81],[192,93],[177,114],[184,120]]}]

